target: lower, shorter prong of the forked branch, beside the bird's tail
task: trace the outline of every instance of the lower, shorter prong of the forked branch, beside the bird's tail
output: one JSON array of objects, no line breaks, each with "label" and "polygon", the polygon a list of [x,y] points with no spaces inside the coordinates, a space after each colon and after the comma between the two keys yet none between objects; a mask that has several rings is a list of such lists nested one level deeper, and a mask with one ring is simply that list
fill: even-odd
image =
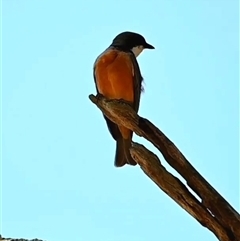
[{"label": "lower, shorter prong of the forked branch, beside the bird's tail", "polygon": [[218,223],[177,177],[161,165],[155,154],[147,150],[143,145],[134,143],[131,148],[131,155],[144,173],[201,225],[211,230],[219,240],[231,240],[224,227]]}]

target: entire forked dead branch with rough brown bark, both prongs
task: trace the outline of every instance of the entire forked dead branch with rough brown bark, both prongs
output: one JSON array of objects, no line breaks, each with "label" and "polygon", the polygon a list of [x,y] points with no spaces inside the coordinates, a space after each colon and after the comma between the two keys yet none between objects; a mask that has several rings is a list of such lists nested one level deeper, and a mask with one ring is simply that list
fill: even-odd
[{"label": "entire forked dead branch with rough brown bark, both prongs", "polygon": [[173,200],[221,241],[240,240],[239,213],[189,163],[174,143],[149,120],[137,115],[124,101],[89,96],[109,119],[150,141],[201,199],[199,202],[188,188],[161,165],[156,155],[142,145],[133,144],[131,154],[143,171]]}]

